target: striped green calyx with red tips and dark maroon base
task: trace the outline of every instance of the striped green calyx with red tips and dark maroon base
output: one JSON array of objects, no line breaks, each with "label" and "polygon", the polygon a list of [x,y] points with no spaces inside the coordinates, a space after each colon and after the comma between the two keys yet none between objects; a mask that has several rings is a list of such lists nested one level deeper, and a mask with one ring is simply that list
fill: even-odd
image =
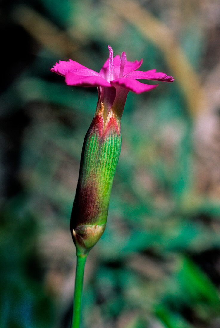
[{"label": "striped green calyx with red tips and dark maroon base", "polygon": [[120,123],[101,103],[86,133],[70,229],[78,254],[96,244],[105,230],[112,182],[121,151]]}]

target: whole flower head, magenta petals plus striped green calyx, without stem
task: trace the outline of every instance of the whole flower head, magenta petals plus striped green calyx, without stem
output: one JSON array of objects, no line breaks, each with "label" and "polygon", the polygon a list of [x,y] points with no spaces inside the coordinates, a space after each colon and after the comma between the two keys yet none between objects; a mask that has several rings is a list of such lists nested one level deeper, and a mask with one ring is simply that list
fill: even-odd
[{"label": "whole flower head, magenta petals plus striped green calyx, without stem", "polygon": [[97,73],[73,61],[59,61],[52,72],[65,76],[68,85],[98,87],[98,102],[86,133],[70,228],[78,255],[86,255],[105,230],[112,182],[121,150],[120,121],[128,91],[141,93],[157,87],[137,79],[172,82],[156,70],[137,71],[142,60],[130,62],[122,52],[109,58]]}]

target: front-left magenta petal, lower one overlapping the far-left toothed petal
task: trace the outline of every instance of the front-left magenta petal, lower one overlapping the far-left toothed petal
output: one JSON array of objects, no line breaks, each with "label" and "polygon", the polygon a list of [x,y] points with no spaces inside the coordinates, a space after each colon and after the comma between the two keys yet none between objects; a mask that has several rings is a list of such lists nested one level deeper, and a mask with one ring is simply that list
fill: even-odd
[{"label": "front-left magenta petal, lower one overlapping the far-left toothed petal", "polygon": [[[98,73],[97,73],[98,74]],[[99,74],[97,75],[79,75],[74,72],[68,72],[65,75],[65,81],[68,85],[84,86],[84,87],[111,87],[111,84],[107,82]]]}]

